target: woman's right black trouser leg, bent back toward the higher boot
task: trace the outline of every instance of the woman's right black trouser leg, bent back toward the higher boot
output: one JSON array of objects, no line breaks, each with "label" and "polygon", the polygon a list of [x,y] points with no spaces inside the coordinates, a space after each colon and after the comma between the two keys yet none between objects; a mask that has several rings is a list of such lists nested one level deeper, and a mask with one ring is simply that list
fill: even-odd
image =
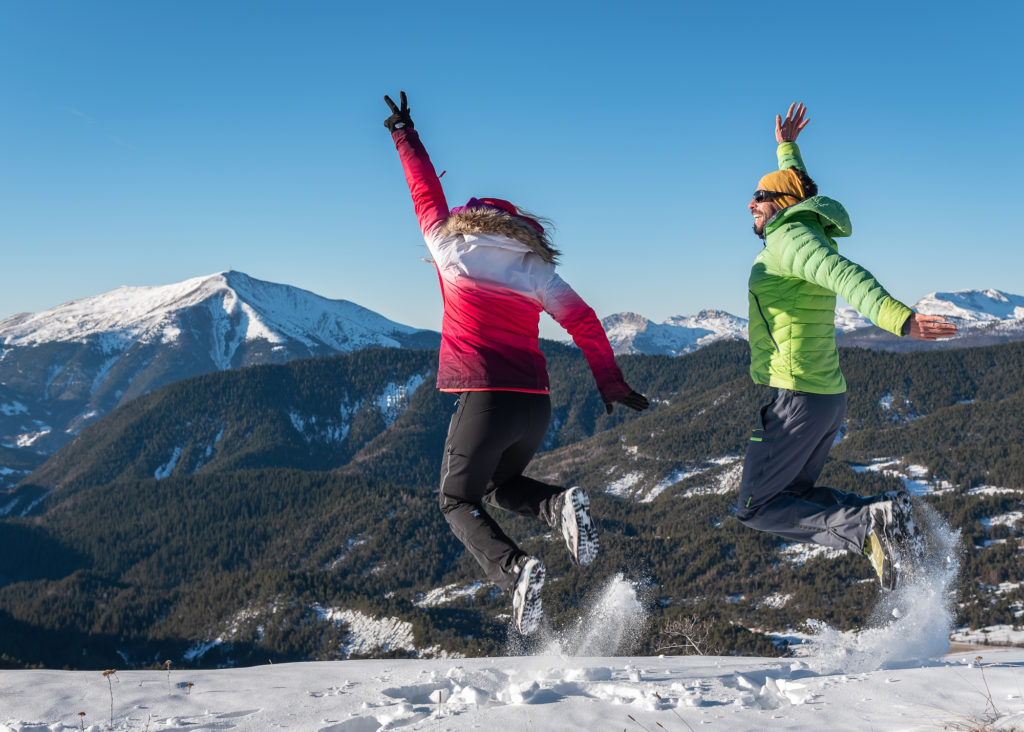
[{"label": "woman's right black trouser leg, bent back toward the higher boot", "polygon": [[521,516],[539,518],[552,524],[554,517],[551,515],[551,499],[565,488],[549,485],[522,474],[548,432],[548,423],[551,421],[551,399],[547,394],[524,396],[527,397],[525,401],[528,403],[525,431],[502,455],[492,477],[485,501]]}]

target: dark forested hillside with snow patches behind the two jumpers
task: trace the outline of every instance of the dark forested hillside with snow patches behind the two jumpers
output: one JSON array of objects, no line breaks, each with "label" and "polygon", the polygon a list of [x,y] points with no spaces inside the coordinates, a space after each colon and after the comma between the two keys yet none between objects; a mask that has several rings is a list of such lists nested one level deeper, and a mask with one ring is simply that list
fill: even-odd
[{"label": "dark forested hillside with snow patches behind the two jumpers", "polygon": [[[808,617],[864,621],[879,592],[866,561],[808,554],[732,518],[767,397],[744,343],[621,357],[652,407],[611,416],[579,352],[545,349],[553,420],[531,473],[591,491],[602,552],[581,571],[547,526],[499,520],[547,563],[556,627],[617,572],[649,589],[638,652],[687,617],[718,650],[759,653],[783,652],[769,634]],[[1024,578],[1024,344],[842,357],[849,419],[822,481],[873,492],[914,476],[920,500],[963,529],[959,620],[1015,622],[1024,594],[999,586]],[[479,582],[436,509],[455,400],[433,388],[435,358],[369,349],[207,375],[84,429],[0,496],[0,662],[504,649],[508,598]],[[367,641],[368,622],[401,633]]]}]

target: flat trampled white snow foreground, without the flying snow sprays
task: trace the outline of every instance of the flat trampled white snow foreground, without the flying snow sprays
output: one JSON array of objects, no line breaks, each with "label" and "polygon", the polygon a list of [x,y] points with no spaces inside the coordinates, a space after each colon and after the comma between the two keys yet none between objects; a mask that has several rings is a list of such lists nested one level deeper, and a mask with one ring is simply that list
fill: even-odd
[{"label": "flat trampled white snow foreground, without the flying snow sprays", "polygon": [[0,730],[1021,729],[1024,650],[978,655],[863,673],[720,656],[349,660],[110,681],[0,671]]}]

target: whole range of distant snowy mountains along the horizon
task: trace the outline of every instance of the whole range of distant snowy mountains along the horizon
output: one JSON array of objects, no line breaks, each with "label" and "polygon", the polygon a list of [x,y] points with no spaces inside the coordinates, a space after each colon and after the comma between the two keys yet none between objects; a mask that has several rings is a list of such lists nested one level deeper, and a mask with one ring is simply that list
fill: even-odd
[{"label": "whole range of distant snowy mountains along the horizon", "polygon": [[[915,304],[962,328],[951,341],[898,339],[852,308],[837,310],[840,345],[919,350],[1024,339],[1024,297],[996,290],[936,293]],[[618,354],[679,356],[746,337],[722,310],[653,322],[602,320]],[[368,347],[435,349],[439,335],[355,303],[224,271],[160,287],[122,287],[0,320],[0,488],[10,487],[85,425],[136,396],[202,374]]]}]

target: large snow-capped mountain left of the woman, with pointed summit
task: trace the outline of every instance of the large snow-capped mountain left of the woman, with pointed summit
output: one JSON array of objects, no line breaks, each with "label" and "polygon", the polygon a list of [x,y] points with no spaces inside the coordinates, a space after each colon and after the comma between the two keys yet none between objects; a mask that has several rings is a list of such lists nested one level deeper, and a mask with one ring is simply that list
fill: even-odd
[{"label": "large snow-capped mountain left of the woman, with pointed summit", "polygon": [[122,287],[0,320],[0,444],[52,453],[119,404],[186,377],[438,340],[242,272]]}]

